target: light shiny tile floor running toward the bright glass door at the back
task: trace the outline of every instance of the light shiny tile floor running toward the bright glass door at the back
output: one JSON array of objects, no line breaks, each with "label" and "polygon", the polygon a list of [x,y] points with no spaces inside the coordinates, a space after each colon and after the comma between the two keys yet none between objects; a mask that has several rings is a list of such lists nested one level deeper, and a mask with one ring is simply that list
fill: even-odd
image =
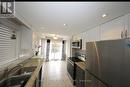
[{"label": "light shiny tile floor running toward the bright glass door at the back", "polygon": [[74,87],[67,75],[66,61],[44,63],[42,87]]}]

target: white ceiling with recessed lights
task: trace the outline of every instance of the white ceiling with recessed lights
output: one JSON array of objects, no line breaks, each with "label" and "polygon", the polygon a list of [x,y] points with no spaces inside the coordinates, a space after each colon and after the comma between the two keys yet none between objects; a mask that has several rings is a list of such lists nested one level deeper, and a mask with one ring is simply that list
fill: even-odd
[{"label": "white ceiling with recessed lights", "polygon": [[71,36],[130,12],[130,2],[16,2],[15,9],[40,34]]}]

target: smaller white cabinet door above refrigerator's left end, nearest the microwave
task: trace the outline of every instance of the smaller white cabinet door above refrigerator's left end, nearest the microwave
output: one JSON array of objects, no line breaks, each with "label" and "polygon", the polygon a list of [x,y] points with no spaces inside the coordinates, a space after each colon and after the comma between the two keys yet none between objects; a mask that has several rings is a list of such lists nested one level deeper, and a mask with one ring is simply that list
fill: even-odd
[{"label": "smaller white cabinet door above refrigerator's left end, nearest the microwave", "polygon": [[100,40],[100,27],[95,27],[86,32],[86,42]]}]

